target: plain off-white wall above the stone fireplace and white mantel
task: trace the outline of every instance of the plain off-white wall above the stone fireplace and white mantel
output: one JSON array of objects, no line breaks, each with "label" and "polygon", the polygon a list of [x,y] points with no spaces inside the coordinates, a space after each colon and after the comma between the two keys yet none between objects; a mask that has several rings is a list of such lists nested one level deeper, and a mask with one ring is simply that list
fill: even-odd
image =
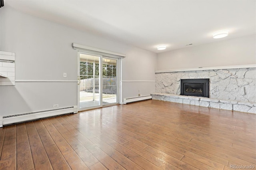
[{"label": "plain off-white wall above the stone fireplace and white mantel", "polygon": [[256,36],[158,53],[157,70],[256,64]]}]

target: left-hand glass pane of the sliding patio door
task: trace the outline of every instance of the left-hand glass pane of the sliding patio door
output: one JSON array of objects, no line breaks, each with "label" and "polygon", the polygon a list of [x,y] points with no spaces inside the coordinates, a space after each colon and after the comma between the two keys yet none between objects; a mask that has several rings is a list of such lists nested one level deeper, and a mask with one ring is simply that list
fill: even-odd
[{"label": "left-hand glass pane of the sliding patio door", "polygon": [[100,106],[100,57],[80,53],[80,108]]}]

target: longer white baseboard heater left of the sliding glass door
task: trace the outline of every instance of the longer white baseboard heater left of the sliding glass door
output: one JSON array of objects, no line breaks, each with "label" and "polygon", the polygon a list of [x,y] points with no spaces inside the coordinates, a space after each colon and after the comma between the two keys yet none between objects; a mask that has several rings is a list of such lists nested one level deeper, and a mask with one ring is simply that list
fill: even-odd
[{"label": "longer white baseboard heater left of the sliding glass door", "polygon": [[65,107],[65,108],[52,109],[52,110],[46,110],[46,111],[24,113],[19,115],[4,116],[2,117],[2,120],[0,119],[1,121],[0,127],[3,127],[5,125],[12,125],[16,123],[34,121],[34,120],[43,119],[47,117],[54,117],[54,116],[65,115],[69,113],[77,113],[77,112],[78,112],[77,106],[73,106],[73,107]]}]

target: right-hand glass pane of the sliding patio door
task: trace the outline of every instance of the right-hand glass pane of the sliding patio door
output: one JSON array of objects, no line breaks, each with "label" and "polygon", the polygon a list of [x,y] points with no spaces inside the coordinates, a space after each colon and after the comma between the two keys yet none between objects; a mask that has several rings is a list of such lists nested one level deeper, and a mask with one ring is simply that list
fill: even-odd
[{"label": "right-hand glass pane of the sliding patio door", "polygon": [[102,104],[117,103],[117,59],[102,59]]}]

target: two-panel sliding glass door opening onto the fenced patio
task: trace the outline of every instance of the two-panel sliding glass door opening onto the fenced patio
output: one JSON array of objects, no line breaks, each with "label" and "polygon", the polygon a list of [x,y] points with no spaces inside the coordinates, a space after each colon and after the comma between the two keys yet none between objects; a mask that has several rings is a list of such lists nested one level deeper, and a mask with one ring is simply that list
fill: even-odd
[{"label": "two-panel sliding glass door opening onto the fenced patio", "polygon": [[118,59],[79,52],[79,110],[118,103]]}]

